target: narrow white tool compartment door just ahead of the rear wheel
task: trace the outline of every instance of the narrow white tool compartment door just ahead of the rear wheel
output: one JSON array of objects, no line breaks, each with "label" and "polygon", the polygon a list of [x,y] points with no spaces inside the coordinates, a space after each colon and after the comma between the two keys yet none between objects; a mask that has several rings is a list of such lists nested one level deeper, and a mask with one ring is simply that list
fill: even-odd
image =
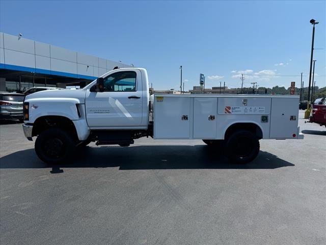
[{"label": "narrow white tool compartment door just ahead of the rear wheel", "polygon": [[216,138],[216,116],[218,114],[218,98],[194,98],[194,138]]}]

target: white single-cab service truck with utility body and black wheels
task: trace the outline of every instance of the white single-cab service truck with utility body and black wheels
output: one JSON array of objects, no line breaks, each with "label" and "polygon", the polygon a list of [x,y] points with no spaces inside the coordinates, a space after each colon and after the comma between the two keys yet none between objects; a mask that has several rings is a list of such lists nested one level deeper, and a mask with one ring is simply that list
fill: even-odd
[{"label": "white single-cab service truck with utility body and black wheels", "polygon": [[83,89],[30,94],[23,103],[25,137],[37,156],[62,163],[76,147],[95,141],[129,146],[154,139],[203,139],[227,158],[247,163],[260,139],[302,139],[299,97],[228,94],[149,94],[144,68],[107,72]]}]

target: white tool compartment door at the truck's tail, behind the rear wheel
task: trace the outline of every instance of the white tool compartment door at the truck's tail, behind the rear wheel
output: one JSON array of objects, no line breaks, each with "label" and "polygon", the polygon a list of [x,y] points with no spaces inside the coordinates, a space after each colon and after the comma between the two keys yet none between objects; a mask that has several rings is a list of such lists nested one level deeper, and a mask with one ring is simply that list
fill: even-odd
[{"label": "white tool compartment door at the truck's tail, behind the rear wheel", "polygon": [[297,134],[298,113],[298,97],[272,98],[270,114],[270,138],[296,138],[293,137],[293,134]]}]

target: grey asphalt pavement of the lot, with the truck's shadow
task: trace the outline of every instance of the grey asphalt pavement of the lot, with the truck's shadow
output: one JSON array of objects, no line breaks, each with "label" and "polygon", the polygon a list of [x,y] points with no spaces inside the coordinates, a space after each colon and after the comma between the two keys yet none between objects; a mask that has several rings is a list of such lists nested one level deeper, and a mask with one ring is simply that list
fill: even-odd
[{"label": "grey asphalt pavement of the lot, with the truck's shadow", "polygon": [[326,244],[326,129],[261,140],[229,163],[201,140],[142,138],[74,162],[39,160],[21,124],[0,126],[0,244]]}]

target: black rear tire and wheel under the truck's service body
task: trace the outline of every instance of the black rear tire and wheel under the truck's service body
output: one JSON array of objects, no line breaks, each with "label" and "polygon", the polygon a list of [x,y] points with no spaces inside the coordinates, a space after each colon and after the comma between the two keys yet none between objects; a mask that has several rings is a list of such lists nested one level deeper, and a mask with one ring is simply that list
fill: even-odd
[{"label": "black rear tire and wheel under the truck's service body", "polygon": [[225,156],[235,163],[248,163],[259,153],[259,140],[254,133],[247,130],[235,131],[225,145]]}]

